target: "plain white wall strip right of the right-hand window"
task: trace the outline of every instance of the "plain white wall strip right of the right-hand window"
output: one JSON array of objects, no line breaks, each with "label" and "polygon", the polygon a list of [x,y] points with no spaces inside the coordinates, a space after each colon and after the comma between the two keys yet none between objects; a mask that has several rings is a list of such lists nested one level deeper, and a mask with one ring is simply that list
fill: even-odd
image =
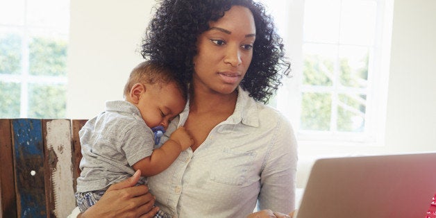
[{"label": "plain white wall strip right of the right-hand window", "polygon": [[436,1],[395,0],[385,144],[436,151]]}]

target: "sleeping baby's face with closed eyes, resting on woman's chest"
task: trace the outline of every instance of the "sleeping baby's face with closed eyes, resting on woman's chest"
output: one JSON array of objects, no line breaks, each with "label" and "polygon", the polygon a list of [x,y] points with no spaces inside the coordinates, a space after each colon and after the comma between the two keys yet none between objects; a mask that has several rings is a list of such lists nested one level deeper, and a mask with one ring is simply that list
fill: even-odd
[{"label": "sleeping baby's face with closed eyes, resting on woman's chest", "polygon": [[156,83],[145,85],[137,108],[147,126],[163,126],[167,130],[169,121],[183,111],[185,104],[176,83]]}]

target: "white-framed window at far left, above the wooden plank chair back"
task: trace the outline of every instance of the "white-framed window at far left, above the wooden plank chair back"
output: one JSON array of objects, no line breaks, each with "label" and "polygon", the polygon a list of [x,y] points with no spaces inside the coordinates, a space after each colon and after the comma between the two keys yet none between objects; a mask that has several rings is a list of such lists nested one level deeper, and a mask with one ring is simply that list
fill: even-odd
[{"label": "white-framed window at far left, above the wooden plank chair back", "polygon": [[69,1],[0,1],[0,117],[65,117]]}]

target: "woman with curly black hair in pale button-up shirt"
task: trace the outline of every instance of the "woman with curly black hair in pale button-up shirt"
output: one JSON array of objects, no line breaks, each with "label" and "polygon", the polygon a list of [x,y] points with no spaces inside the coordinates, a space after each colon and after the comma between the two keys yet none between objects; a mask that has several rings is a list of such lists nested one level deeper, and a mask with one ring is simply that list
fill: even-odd
[{"label": "woman with curly black hair in pale button-up shirt", "polygon": [[[185,126],[194,145],[149,178],[156,205],[178,217],[284,217],[294,210],[294,133],[263,104],[289,64],[265,9],[251,0],[160,1],[142,55],[190,84],[185,110],[167,133]],[[112,185],[84,215],[128,205],[132,217],[152,217],[152,196],[129,187],[134,181]],[[256,202],[261,211],[251,214]]]}]

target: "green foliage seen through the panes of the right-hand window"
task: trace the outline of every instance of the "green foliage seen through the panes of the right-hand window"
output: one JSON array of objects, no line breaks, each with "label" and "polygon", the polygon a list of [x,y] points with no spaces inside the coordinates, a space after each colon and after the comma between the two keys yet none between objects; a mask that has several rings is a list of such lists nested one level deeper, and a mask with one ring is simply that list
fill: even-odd
[{"label": "green foliage seen through the panes of the right-hand window", "polygon": [[[339,60],[339,82],[344,87],[366,87],[368,56],[364,56],[363,67],[353,69],[349,60]],[[317,55],[305,56],[303,84],[332,87],[333,60]],[[334,92],[332,92],[335,94]],[[332,93],[303,92],[301,97],[301,129],[310,131],[331,131]],[[337,120],[335,129],[342,132],[364,131],[366,111],[365,94],[337,94]]]}]

